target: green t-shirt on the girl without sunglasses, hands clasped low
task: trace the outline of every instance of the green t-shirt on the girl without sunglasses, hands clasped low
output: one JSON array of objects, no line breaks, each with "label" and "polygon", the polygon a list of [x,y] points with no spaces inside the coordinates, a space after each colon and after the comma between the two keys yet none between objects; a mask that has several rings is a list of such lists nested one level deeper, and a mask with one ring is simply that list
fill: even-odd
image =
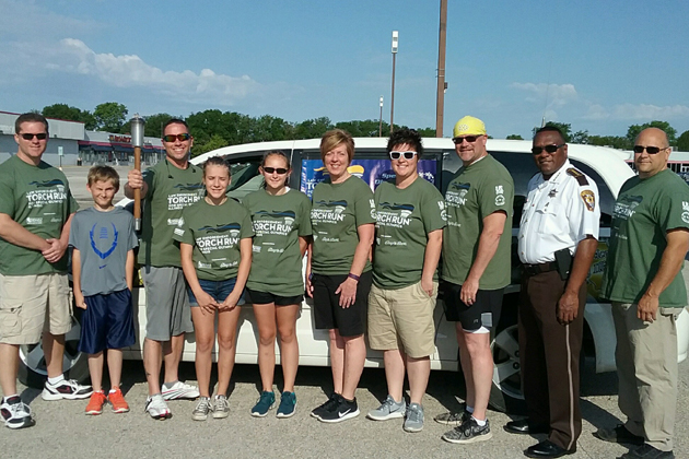
[{"label": "green t-shirt on the girl without sunglasses, hands clasped low", "polygon": [[254,236],[248,211],[229,198],[220,205],[201,199],[182,211],[174,238],[194,246],[196,275],[207,281],[236,278],[242,254],[240,239]]}]

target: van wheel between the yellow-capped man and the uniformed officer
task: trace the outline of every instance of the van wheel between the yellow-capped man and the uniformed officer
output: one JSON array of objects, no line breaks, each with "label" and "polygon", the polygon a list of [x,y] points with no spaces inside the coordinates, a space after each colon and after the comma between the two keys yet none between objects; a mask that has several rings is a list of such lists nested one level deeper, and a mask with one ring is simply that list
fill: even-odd
[{"label": "van wheel between the yellow-capped man and the uniformed officer", "polygon": [[497,331],[490,344],[493,353],[493,384],[489,403],[498,411],[524,414],[526,403],[522,393],[519,340],[516,320],[511,322]]}]

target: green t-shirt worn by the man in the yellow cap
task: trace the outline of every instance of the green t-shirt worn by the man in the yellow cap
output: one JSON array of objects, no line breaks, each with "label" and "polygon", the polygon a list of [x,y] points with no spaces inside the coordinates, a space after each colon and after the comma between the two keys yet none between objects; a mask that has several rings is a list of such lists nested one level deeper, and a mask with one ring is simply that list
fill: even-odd
[{"label": "green t-shirt worn by the man in the yellow cap", "polygon": [[514,184],[512,176],[490,154],[462,167],[445,191],[447,226],[443,232],[441,276],[462,285],[476,260],[483,219],[493,212],[507,214],[498,250],[479,279],[479,289],[497,290],[510,284],[512,263],[512,214]]}]

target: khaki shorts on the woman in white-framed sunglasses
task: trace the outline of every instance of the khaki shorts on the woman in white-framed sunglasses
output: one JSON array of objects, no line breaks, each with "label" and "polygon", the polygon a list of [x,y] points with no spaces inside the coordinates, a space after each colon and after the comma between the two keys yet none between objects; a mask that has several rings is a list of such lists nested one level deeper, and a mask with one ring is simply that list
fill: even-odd
[{"label": "khaki shorts on the woman in white-framed sunglasses", "polygon": [[369,294],[369,344],[371,349],[400,349],[412,358],[435,352],[433,310],[437,283],[429,296],[421,282],[404,289],[385,290],[375,285]]}]

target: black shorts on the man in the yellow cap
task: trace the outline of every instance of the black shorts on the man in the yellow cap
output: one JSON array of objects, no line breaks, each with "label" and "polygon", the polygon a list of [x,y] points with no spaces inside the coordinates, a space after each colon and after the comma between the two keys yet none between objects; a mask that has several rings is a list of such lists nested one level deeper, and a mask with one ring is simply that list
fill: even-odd
[{"label": "black shorts on the man in the yellow cap", "polygon": [[481,327],[490,329],[498,326],[504,289],[479,289],[471,306],[467,306],[459,297],[462,285],[443,281],[442,289],[445,317],[448,321],[462,322],[462,328],[466,331],[476,331]]}]

